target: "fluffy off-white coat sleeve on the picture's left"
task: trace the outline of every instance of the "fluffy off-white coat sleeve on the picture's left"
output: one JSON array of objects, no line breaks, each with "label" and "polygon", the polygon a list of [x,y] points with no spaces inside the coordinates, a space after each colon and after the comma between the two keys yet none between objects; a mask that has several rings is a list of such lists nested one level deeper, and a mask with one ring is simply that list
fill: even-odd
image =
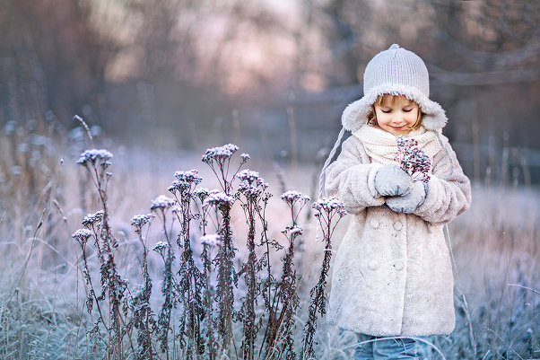
[{"label": "fluffy off-white coat sleeve on the picture's left", "polygon": [[370,163],[360,147],[361,143],[354,136],[345,140],[341,154],[328,166],[326,173],[327,195],[343,201],[345,209],[352,214],[385,202],[374,185],[375,173],[382,165]]}]

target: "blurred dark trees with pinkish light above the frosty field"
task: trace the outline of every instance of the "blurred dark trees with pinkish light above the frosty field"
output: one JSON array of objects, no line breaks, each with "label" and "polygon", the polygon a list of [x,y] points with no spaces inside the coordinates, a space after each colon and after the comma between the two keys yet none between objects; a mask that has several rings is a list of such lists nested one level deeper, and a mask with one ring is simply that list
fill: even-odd
[{"label": "blurred dark trees with pinkish light above the frosty field", "polygon": [[[475,181],[540,181],[540,3],[2,0],[0,124],[80,115],[128,148],[314,162],[366,63],[422,57]],[[73,136],[73,134],[72,134]]]}]

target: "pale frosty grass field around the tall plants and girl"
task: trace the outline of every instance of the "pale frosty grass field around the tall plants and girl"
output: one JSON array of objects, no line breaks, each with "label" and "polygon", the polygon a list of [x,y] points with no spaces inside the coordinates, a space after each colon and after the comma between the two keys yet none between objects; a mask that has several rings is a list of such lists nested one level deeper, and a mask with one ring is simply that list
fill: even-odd
[{"label": "pale frosty grass field around the tall plants and girl", "polygon": [[[182,233],[180,222],[167,225],[170,227],[163,232],[159,211],[154,211],[156,217],[142,234],[137,234],[130,224],[134,215],[151,213],[152,200],[161,194],[169,194],[172,198],[168,188],[174,180],[175,171],[197,169],[203,178],[200,186],[219,188],[210,168],[201,162],[202,154],[111,149],[114,157],[110,159],[112,164],[107,169],[112,172],[112,177],[106,200],[110,239],[114,238],[117,242],[111,251],[114,253],[116,274],[121,279],[118,285],[113,280],[110,280],[110,284],[100,284],[99,251],[95,249],[86,252],[88,269],[85,273],[81,246],[72,238],[72,234],[83,227],[81,222],[84,216],[102,207],[88,171],[75,163],[88,145],[81,140],[53,145],[48,137],[24,128],[13,128],[13,131],[4,131],[4,135],[0,135],[0,146],[0,358],[164,359],[167,355],[175,359],[292,358],[287,355],[292,354],[290,349],[293,349],[294,356],[301,353],[311,303],[309,289],[318,281],[325,244],[313,240],[316,218],[311,202],[301,210],[300,206],[292,206],[291,210],[280,195],[283,190],[298,190],[313,198],[312,178],[317,174],[315,167],[280,168],[257,162],[256,159],[245,165],[248,169],[259,171],[260,176],[270,184],[268,191],[274,194],[267,201],[266,236],[277,240],[284,249],[274,250],[267,264],[275,271],[275,284],[293,286],[295,290],[292,293],[298,297],[298,307],[292,308],[292,313],[289,313],[292,324],[290,334],[280,335],[292,340],[291,347],[276,343],[275,347],[283,346],[283,354],[259,352],[259,349],[265,348],[265,329],[271,328],[271,321],[265,318],[265,302],[260,297],[253,310],[255,318],[263,319],[257,323],[260,328],[252,344],[254,354],[244,356],[249,353],[244,347],[248,322],[248,316],[244,314],[243,318],[240,317],[243,320],[233,319],[230,324],[234,350],[222,352],[219,344],[216,344],[210,352],[213,357],[208,357],[208,350],[204,355],[193,355],[196,351],[189,353],[186,344],[182,343],[187,341],[189,344],[189,339],[193,340],[194,336],[187,336],[186,340],[178,332],[179,319],[184,319],[181,312],[185,309],[181,305],[173,306],[170,310],[170,330],[166,337],[168,348],[167,352],[161,351],[163,334],[158,329],[160,321],[157,318],[163,315],[162,304],[166,297],[163,291],[166,287],[163,285],[166,256],[163,251],[161,254],[152,251],[152,247],[158,241],[167,241],[169,236],[176,239],[177,234]],[[234,155],[237,159],[240,159],[242,150]],[[292,218],[288,215],[291,212]],[[207,233],[214,233],[216,227],[223,226],[220,216],[217,210],[209,215]],[[247,217],[239,201],[231,207],[230,217],[231,241],[239,249],[233,260],[235,262],[231,264],[238,270],[241,264],[248,263],[246,239],[249,238]],[[346,222],[347,217],[344,217],[335,229],[332,238],[334,249],[339,244]],[[192,243],[194,264],[202,271],[205,263],[201,254],[205,246],[199,241],[202,233],[198,224],[198,219],[191,221],[191,233],[187,238]],[[512,187],[474,186],[471,209],[448,226],[449,246],[455,262],[457,329],[447,338],[436,339],[435,345],[444,356],[439,358],[540,358],[538,224],[538,189],[522,188],[519,184]],[[294,225],[301,226],[303,233],[297,235],[292,229]],[[257,223],[254,229],[258,242],[264,228]],[[296,280],[292,281],[292,277],[283,277],[285,270],[282,267],[287,259],[288,243],[294,239],[296,252],[292,267]],[[212,256],[216,253],[217,250],[211,249]],[[179,261],[184,258],[180,254],[177,249],[175,259],[178,262],[171,265],[173,272],[181,271]],[[262,256],[262,252],[257,252],[257,257]],[[141,286],[144,289],[144,261],[152,282],[152,295],[147,299],[151,313],[146,312],[144,316],[147,320],[153,316],[157,320],[157,328],[144,328],[130,322],[136,318],[135,300],[144,293],[141,291]],[[244,269],[248,271],[248,268]],[[101,285],[109,285],[103,299],[98,301],[94,298],[91,312],[88,312],[87,304],[91,286],[86,274],[90,275],[96,293],[100,292]],[[243,277],[239,278],[238,285],[232,286],[236,303],[231,306],[234,311],[240,312],[243,309],[241,302],[247,302],[249,285]],[[265,277],[257,275],[257,278],[264,280]],[[111,284],[125,287],[121,294],[116,295],[118,319],[125,321],[118,325],[118,329],[122,329],[118,334],[115,333],[115,312],[111,310],[114,308],[110,297],[114,293]],[[273,294],[282,294],[278,287],[273,288]],[[217,290],[209,288],[208,291]],[[283,294],[293,296],[292,293]],[[98,295],[95,297],[99,298]],[[126,299],[125,302],[122,297]],[[103,312],[104,319],[98,315],[98,303],[103,307],[100,312]],[[274,311],[283,312],[285,316],[287,309],[287,305],[282,303]],[[151,332],[147,337],[150,343],[146,345],[144,336],[141,338],[143,328]],[[227,336],[222,329],[214,330],[216,336]],[[320,316],[314,340],[315,358],[318,359],[349,358],[355,341],[353,334],[327,326],[324,317]],[[121,342],[121,346],[115,341]],[[150,350],[142,353],[142,347]],[[119,349],[122,351],[119,352]]]}]

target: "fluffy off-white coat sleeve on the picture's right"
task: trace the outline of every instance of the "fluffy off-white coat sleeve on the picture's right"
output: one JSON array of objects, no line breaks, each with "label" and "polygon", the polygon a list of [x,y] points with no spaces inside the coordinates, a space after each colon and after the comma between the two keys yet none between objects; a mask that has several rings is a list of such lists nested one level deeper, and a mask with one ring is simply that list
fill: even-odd
[{"label": "fluffy off-white coat sleeve on the picture's right", "polygon": [[471,182],[457,162],[448,139],[441,137],[443,149],[433,159],[427,197],[414,211],[414,215],[432,224],[449,223],[471,205]]}]

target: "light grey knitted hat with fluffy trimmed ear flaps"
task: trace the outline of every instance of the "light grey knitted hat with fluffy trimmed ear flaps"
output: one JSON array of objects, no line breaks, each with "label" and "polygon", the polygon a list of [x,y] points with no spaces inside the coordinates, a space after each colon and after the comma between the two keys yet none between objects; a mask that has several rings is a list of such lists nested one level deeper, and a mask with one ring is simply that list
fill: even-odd
[{"label": "light grey knitted hat with fluffy trimmed ear flaps", "polygon": [[354,131],[367,124],[371,105],[379,95],[404,95],[422,111],[422,126],[440,130],[447,117],[440,105],[431,101],[428,69],[414,52],[394,44],[371,59],[364,72],[364,96],[344,110],[341,121],[345,130]]}]

